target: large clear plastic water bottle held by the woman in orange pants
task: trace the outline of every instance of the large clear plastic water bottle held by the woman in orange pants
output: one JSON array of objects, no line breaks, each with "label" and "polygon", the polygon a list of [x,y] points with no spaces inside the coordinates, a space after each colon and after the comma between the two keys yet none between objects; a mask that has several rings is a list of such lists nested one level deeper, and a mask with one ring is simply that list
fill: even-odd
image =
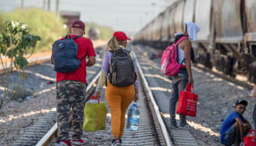
[{"label": "large clear plastic water bottle held by the woman in orange pants", "polygon": [[137,104],[132,104],[132,107],[128,112],[127,128],[130,130],[138,130],[140,120],[140,111],[138,110]]}]

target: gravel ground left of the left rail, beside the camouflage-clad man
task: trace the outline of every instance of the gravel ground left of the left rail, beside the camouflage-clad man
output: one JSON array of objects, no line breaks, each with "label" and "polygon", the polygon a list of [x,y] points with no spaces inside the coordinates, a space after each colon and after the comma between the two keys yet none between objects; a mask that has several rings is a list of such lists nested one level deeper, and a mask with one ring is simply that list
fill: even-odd
[{"label": "gravel ground left of the left rail, beside the camouflage-clad man", "polygon": [[[102,51],[96,50],[100,53]],[[88,67],[87,81],[93,79],[101,69],[102,59],[97,58],[95,66]],[[8,83],[17,82],[18,72],[12,72]],[[0,76],[2,77],[2,75]],[[24,101],[10,101],[0,112],[0,145],[12,145],[15,140],[26,133],[29,127],[48,112],[56,111],[56,74],[50,62],[29,66],[26,79],[20,80],[24,88],[32,91],[33,96]]]}]

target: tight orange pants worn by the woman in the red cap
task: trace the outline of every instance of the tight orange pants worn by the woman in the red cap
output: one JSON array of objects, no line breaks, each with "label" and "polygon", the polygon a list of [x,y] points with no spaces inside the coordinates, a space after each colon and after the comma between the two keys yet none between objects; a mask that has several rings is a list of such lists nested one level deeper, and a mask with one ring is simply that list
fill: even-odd
[{"label": "tight orange pants worn by the woman in the red cap", "polygon": [[121,137],[124,133],[125,113],[127,111],[127,107],[135,96],[134,85],[116,87],[108,80],[105,96],[111,111],[113,137]]}]

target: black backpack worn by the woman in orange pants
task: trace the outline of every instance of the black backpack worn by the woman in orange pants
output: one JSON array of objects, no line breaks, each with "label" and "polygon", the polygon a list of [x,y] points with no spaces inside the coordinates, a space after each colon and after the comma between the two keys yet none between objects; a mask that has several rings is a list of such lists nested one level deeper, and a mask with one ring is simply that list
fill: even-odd
[{"label": "black backpack worn by the woman in orange pants", "polygon": [[110,83],[117,87],[125,87],[135,83],[135,66],[129,50],[119,49],[112,53],[110,59]]}]

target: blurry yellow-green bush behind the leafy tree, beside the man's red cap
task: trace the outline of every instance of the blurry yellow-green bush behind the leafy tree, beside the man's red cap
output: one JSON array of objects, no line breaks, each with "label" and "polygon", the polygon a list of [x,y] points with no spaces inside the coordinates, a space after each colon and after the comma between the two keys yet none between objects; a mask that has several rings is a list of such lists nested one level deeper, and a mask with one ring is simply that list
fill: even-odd
[{"label": "blurry yellow-green bush behind the leafy tree, beside the man's red cap", "polygon": [[35,52],[44,52],[51,49],[53,42],[67,33],[63,28],[64,20],[57,18],[53,12],[42,9],[15,9],[12,12],[0,12],[0,33],[4,31],[7,20],[18,20],[29,26],[29,32],[41,38]]}]

